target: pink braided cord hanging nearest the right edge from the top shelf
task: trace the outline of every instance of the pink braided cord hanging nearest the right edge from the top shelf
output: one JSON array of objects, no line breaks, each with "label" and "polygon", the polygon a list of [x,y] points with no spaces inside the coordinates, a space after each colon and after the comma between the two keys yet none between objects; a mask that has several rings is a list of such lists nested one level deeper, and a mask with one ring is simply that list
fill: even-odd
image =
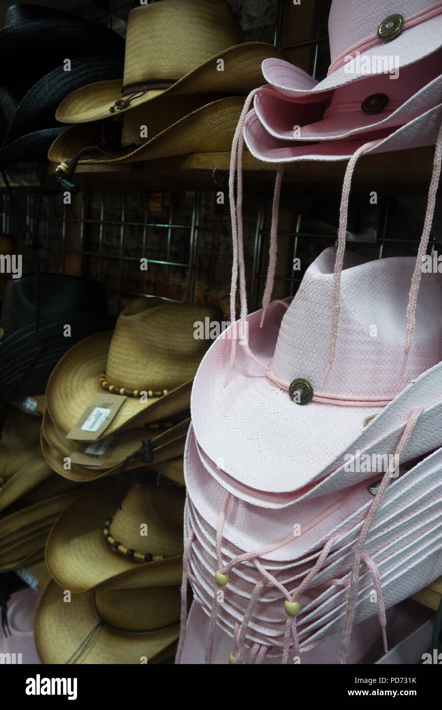
[{"label": "pink braided cord hanging nearest the right edge from the top shelf", "polygon": [[433,214],[434,208],[436,206],[436,192],[438,190],[439,177],[441,175],[441,163],[442,163],[442,124],[439,129],[438,138],[436,141],[436,148],[434,150],[433,158],[433,172],[431,174],[431,182],[429,187],[429,196],[426,203],[426,212],[424,219],[424,229],[422,230],[421,241],[419,243],[419,249],[416,257],[416,266],[414,267],[413,278],[411,278],[411,287],[409,302],[407,306],[407,328],[405,329],[405,344],[404,344],[404,359],[402,360],[402,366],[400,371],[400,376],[404,376],[405,368],[407,366],[407,359],[409,355],[409,350],[411,346],[411,339],[413,338],[414,325],[416,324],[416,302],[419,293],[419,285],[421,283],[422,274],[422,261],[426,254],[426,248],[429,244],[431,225],[433,224]]}]

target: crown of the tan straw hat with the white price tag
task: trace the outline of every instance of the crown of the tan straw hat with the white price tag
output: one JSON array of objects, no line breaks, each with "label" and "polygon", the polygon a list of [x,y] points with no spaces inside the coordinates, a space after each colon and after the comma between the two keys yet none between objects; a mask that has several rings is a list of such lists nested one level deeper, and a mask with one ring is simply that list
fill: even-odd
[{"label": "crown of the tan straw hat with the white price tag", "polygon": [[[221,320],[217,306],[138,298],[118,317],[106,380],[128,390],[172,390],[191,380],[209,346],[195,323]],[[99,374],[99,373],[98,373]]]}]

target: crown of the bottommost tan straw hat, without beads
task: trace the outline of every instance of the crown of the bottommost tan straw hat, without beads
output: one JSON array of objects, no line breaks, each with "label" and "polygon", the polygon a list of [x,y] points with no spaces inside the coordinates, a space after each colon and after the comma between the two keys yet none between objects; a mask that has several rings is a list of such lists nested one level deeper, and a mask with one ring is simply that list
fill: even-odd
[{"label": "crown of the bottommost tan straw hat, without beads", "polygon": [[179,619],[177,586],[145,589],[97,589],[95,606],[100,618],[121,631],[153,631]]}]

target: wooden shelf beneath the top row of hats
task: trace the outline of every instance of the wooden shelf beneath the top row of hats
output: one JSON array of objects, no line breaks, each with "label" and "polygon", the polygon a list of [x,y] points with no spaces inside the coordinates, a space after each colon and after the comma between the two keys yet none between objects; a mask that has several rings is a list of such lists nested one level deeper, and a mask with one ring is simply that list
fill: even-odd
[{"label": "wooden shelf beneath the top row of hats", "polygon": [[[433,146],[408,151],[367,155],[358,160],[353,175],[352,195],[375,191],[379,195],[425,195],[431,179]],[[263,163],[244,153],[244,178],[261,182],[262,190],[272,190],[275,163]],[[297,195],[311,192],[339,194],[346,170],[346,160],[338,162],[287,163],[284,183],[297,188]],[[79,165],[74,180],[81,188],[142,190],[220,190],[213,178],[218,168],[222,185],[227,186],[230,153],[194,153],[173,158],[146,160],[121,165]],[[48,189],[57,189],[55,163],[50,163]]]}]

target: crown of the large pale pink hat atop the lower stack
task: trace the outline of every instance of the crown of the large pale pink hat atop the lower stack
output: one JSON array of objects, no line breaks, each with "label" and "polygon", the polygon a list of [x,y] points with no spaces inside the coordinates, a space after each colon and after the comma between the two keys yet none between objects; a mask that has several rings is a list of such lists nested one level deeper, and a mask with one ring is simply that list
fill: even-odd
[{"label": "crown of the large pale pink hat atop the lower stack", "polygon": [[308,380],[335,398],[392,399],[442,359],[442,274],[422,273],[416,327],[404,377],[409,288],[415,258],[363,261],[346,252],[341,276],[336,355],[322,387],[331,333],[336,249],[307,269],[281,322],[272,370],[285,381]]}]

